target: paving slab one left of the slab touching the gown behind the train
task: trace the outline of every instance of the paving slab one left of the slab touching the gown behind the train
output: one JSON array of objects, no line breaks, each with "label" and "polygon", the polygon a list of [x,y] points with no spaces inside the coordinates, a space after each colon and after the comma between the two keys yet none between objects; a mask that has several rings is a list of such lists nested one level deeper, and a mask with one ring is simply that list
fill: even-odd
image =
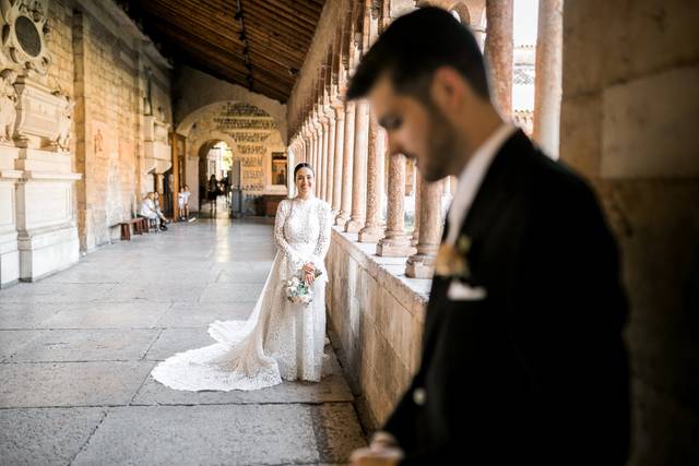
[{"label": "paving slab one left of the slab touching the gown behind the train", "polygon": [[145,328],[154,327],[169,302],[81,302],[63,307],[42,322],[44,328]]}]

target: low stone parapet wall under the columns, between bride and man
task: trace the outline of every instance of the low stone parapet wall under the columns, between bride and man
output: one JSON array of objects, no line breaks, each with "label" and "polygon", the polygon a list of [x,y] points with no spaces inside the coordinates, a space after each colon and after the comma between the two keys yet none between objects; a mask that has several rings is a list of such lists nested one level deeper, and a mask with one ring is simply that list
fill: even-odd
[{"label": "low stone parapet wall under the columns, between bride and man", "polygon": [[430,280],[404,275],[404,258],[379,258],[376,244],[332,232],[325,259],[329,322],[363,423],[379,427],[418,368]]}]

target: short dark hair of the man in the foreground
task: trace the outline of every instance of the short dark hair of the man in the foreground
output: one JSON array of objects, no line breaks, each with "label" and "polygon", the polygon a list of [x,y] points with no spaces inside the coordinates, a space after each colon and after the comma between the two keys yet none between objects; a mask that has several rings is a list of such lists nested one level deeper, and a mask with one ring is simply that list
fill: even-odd
[{"label": "short dark hair of the man in the foreground", "polygon": [[489,98],[483,55],[475,37],[449,12],[426,7],[395,20],[364,56],[350,82],[347,99],[366,96],[388,73],[395,92],[429,101],[439,67],[455,69],[474,92]]}]

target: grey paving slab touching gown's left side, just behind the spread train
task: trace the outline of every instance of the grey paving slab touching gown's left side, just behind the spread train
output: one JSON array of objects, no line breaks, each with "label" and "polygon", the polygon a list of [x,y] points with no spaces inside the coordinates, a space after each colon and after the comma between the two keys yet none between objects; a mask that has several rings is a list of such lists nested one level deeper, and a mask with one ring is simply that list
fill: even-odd
[{"label": "grey paving slab touching gown's left side, just behind the spread train", "polygon": [[254,301],[247,302],[176,302],[158,321],[164,327],[208,327],[214,321],[247,319]]}]

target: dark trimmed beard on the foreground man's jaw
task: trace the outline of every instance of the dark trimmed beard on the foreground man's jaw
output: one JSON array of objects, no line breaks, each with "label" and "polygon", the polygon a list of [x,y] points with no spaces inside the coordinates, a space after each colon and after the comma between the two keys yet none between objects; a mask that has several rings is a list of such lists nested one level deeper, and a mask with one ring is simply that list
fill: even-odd
[{"label": "dark trimmed beard on the foreground man's jaw", "polygon": [[428,111],[427,160],[420,172],[427,181],[433,182],[451,175],[452,167],[461,158],[461,151],[457,131],[441,110],[430,105]]}]

